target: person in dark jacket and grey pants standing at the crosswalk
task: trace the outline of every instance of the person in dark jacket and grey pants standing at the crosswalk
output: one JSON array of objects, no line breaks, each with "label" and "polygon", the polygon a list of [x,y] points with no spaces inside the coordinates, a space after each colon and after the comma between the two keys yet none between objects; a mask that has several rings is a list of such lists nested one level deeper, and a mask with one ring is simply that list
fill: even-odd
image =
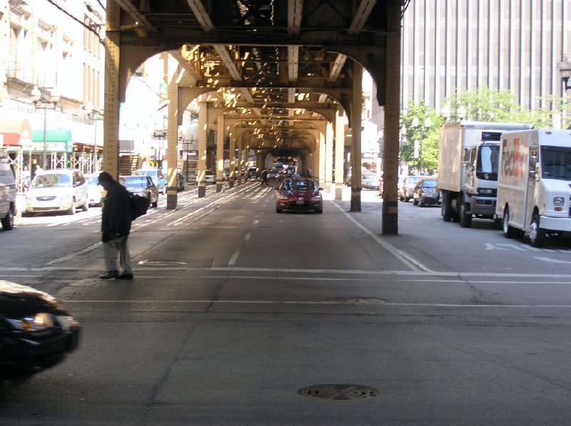
[{"label": "person in dark jacket and grey pants standing at the crosswalk", "polygon": [[131,196],[108,172],[101,172],[98,180],[107,192],[101,212],[101,241],[107,271],[99,278],[133,279],[131,253],[127,244],[131,232]]}]

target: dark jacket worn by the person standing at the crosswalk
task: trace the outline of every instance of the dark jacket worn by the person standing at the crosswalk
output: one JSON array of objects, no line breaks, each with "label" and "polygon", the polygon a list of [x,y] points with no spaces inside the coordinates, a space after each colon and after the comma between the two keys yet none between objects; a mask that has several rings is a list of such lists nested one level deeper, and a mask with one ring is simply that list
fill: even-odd
[{"label": "dark jacket worn by the person standing at the crosswalk", "polygon": [[131,232],[131,196],[120,183],[113,181],[103,201],[101,240],[105,243]]}]

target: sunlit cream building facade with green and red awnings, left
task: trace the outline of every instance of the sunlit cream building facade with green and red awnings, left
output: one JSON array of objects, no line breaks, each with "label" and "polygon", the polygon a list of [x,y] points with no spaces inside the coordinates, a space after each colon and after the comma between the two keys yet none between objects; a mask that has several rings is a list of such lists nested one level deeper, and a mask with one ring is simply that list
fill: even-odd
[{"label": "sunlit cream building facade with green and red awnings, left", "polygon": [[100,170],[104,13],[98,1],[0,0],[0,142],[18,172]]}]

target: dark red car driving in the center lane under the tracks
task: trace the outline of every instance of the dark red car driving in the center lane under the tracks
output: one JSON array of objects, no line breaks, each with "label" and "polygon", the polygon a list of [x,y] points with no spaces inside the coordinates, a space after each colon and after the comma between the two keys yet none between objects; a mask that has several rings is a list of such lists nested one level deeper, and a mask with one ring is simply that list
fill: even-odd
[{"label": "dark red car driving in the center lane under the tracks", "polygon": [[276,188],[276,212],[288,210],[313,210],[323,213],[323,188],[307,177],[287,177]]}]

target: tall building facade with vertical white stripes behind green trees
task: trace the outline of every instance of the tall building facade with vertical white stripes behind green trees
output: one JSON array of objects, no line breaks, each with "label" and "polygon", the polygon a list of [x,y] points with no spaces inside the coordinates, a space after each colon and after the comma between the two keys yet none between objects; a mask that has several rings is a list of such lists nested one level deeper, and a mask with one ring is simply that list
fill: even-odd
[{"label": "tall building facade with vertical white stripes behind green trees", "polygon": [[401,101],[487,85],[527,110],[564,95],[558,63],[571,55],[571,0],[413,0],[403,17]]}]

